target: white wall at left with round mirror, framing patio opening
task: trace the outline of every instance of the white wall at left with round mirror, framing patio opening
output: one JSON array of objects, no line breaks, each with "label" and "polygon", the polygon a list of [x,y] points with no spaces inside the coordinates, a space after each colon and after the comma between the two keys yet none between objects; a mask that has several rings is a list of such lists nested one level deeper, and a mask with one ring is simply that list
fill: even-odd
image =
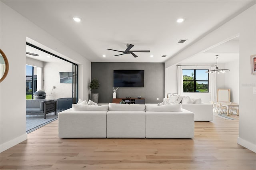
[{"label": "white wall at left with round mirror, framing patio opening", "polygon": [[[26,140],[26,41],[39,42],[56,55],[79,64],[78,96],[88,99],[90,61],[0,2],[0,45],[9,61],[9,73],[0,84],[0,150]],[[34,40],[34,42],[32,41]],[[35,44],[36,45],[36,44]],[[72,57],[69,58],[69,57]],[[15,94],[15,104],[13,95]]]}]

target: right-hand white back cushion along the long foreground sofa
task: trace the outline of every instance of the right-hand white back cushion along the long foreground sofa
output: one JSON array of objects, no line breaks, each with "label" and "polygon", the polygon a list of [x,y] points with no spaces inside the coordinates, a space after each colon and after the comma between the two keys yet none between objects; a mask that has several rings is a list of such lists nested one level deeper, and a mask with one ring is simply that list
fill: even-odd
[{"label": "right-hand white back cushion along the long foreground sofa", "polygon": [[162,106],[146,105],[146,111],[178,112],[178,111],[181,111],[181,105],[180,104],[162,105]]}]

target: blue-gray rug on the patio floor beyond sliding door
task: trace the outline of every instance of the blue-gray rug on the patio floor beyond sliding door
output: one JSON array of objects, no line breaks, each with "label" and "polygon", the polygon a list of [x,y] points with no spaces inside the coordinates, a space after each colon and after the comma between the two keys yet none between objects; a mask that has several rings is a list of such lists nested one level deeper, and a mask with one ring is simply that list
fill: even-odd
[{"label": "blue-gray rug on the patio floor beyond sliding door", "polygon": [[34,130],[51,123],[58,119],[58,113],[64,110],[57,110],[57,115],[54,115],[54,112],[48,113],[46,119],[44,115],[26,115],[26,133],[33,132]]}]

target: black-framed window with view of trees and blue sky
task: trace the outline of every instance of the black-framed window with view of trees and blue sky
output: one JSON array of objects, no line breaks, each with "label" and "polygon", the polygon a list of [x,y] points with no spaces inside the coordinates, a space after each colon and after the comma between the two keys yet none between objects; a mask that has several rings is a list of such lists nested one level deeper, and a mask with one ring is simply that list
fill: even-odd
[{"label": "black-framed window with view of trees and blue sky", "polygon": [[208,93],[208,70],[182,69],[183,92]]}]

